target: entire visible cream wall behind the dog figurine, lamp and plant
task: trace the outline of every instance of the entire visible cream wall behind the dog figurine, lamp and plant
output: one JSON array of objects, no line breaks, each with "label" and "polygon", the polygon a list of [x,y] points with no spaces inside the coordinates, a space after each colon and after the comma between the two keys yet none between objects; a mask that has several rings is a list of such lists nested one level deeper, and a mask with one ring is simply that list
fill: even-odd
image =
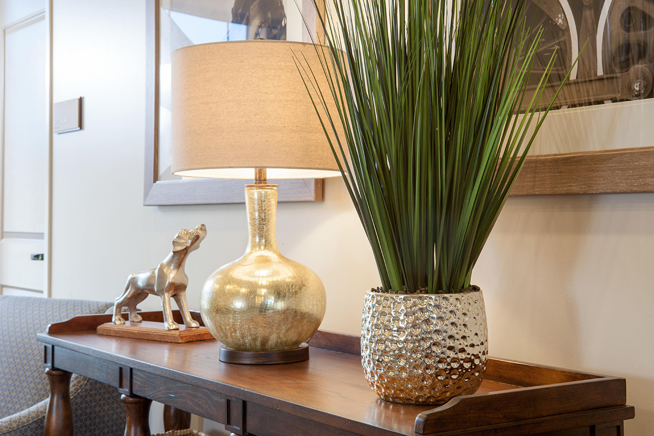
[{"label": "entire visible cream wall behind the dog figurine, lamp and plant", "polygon": [[[52,296],[112,300],[179,228],[209,235],[186,266],[188,300],[245,249],[245,207],[145,207],[145,2],[54,0],[54,101],[84,96],[84,130],[56,135]],[[341,181],[320,204],[280,204],[284,255],[328,294],[323,329],[358,334],[377,272]],[[636,420],[654,428],[654,195],[511,198],[477,269],[492,355],[625,376]],[[151,298],[142,305],[157,308]]]}]

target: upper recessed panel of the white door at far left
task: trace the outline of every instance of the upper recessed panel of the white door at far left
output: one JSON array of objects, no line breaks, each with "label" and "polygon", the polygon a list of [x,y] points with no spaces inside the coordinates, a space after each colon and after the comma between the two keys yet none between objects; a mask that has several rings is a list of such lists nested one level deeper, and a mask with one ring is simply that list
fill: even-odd
[{"label": "upper recessed panel of the white door at far left", "polygon": [[46,43],[45,14],[5,29],[4,232],[45,228]]}]

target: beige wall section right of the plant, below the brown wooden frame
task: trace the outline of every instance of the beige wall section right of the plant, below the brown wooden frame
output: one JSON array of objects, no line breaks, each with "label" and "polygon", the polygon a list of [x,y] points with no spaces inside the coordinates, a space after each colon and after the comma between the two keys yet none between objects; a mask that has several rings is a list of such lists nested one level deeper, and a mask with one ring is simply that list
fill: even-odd
[{"label": "beige wall section right of the plant, below the brown wooden frame", "polygon": [[479,259],[490,354],[627,378],[654,429],[654,195],[511,198]]}]

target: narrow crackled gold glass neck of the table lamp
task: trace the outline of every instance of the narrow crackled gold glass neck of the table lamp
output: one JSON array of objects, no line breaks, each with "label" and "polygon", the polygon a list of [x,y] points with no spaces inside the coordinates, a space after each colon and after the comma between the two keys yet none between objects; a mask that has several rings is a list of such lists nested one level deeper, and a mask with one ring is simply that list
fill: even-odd
[{"label": "narrow crackled gold glass neck of the table lamp", "polygon": [[245,185],[249,237],[247,252],[277,249],[277,185]]}]

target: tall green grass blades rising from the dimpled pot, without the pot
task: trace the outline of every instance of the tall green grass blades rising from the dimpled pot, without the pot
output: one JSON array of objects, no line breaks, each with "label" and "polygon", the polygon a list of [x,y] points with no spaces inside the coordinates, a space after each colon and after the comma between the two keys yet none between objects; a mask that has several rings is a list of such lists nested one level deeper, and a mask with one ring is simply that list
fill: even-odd
[{"label": "tall green grass blades rising from the dimpled pot, without the pot", "polygon": [[298,69],[317,95],[383,291],[468,289],[551,107],[539,109],[555,56],[527,102],[542,30],[530,29],[526,0],[327,3],[330,54],[322,71],[301,59]]}]

